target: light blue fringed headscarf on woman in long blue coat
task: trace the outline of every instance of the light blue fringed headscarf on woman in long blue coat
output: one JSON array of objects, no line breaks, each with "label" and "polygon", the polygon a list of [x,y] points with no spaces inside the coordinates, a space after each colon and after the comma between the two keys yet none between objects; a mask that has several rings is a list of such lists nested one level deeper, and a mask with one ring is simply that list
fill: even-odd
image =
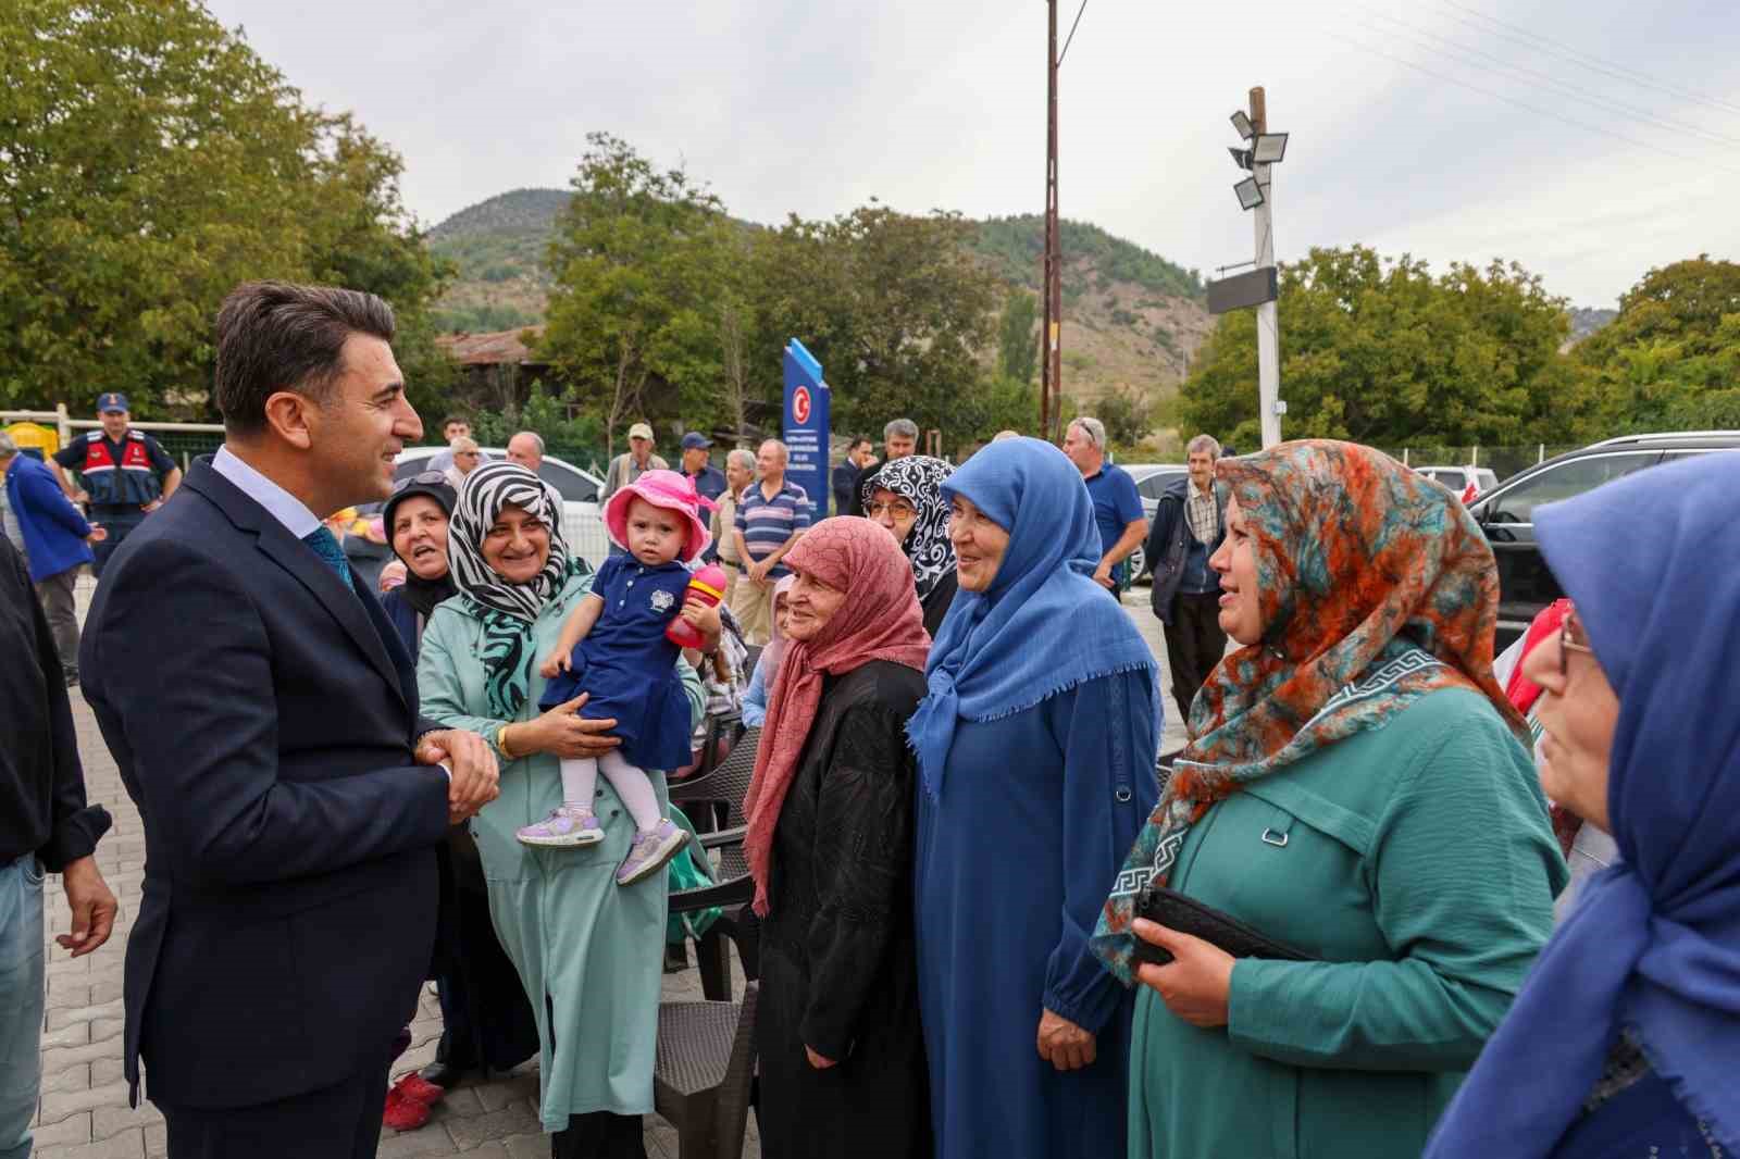
[{"label": "light blue fringed headscarf on woman in long blue coat", "polygon": [[934,801],[955,720],[1014,715],[1067,689],[1117,672],[1148,668],[1154,653],[1112,595],[1093,581],[1100,533],[1075,465],[1049,442],[994,442],[941,486],[971,499],[1009,533],[985,592],[960,588],[936,632],[924,668],[929,694],[907,724],[924,792]]}]

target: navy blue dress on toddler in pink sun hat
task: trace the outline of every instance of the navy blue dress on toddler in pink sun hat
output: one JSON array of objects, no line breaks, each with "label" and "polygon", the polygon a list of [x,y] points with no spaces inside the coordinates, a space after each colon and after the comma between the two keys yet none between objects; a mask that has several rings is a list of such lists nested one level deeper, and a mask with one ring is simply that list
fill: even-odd
[{"label": "navy blue dress on toddler in pink sun hat", "polygon": [[628,764],[680,769],[689,764],[689,700],[677,677],[682,651],[665,628],[682,611],[689,569],[672,560],[647,567],[633,555],[612,555],[599,567],[592,593],[604,611],[572,654],[572,668],[545,686],[539,708],[555,708],[581,693],[592,698],[579,715],[616,717],[612,736]]}]

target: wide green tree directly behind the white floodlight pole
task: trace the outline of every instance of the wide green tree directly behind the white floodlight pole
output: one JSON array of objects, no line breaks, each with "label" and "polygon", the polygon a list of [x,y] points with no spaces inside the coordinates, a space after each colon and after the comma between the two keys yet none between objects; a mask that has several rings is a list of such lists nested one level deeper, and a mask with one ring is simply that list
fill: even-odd
[{"label": "wide green tree directly behind the white floodlight pole", "polygon": [[[1314,249],[1281,271],[1281,395],[1288,437],[1397,446],[1503,446],[1563,437],[1580,372],[1559,353],[1564,301],[1516,263],[1453,263],[1432,277],[1408,254]],[[1180,418],[1253,446],[1256,317],[1221,315],[1183,385]]]}]

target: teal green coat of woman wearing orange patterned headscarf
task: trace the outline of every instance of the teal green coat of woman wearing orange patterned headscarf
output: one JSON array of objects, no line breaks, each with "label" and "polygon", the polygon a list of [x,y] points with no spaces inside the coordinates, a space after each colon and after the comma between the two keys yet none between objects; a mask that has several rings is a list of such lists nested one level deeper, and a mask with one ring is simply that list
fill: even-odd
[{"label": "teal green coat of woman wearing orange patterned headscarf", "polygon": [[1564,881],[1528,754],[1463,689],[1221,801],[1171,886],[1324,961],[1241,959],[1211,1030],[1138,987],[1129,1154],[1418,1156]]}]

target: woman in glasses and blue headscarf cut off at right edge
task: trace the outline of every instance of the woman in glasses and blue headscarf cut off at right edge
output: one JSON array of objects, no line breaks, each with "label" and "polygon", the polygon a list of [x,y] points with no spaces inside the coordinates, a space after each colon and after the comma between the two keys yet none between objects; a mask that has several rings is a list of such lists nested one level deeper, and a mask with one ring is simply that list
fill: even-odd
[{"label": "woman in glasses and blue headscarf cut off at right edge", "polygon": [[1613,834],[1427,1156],[1740,1154],[1740,456],[1535,513],[1543,788]]}]

